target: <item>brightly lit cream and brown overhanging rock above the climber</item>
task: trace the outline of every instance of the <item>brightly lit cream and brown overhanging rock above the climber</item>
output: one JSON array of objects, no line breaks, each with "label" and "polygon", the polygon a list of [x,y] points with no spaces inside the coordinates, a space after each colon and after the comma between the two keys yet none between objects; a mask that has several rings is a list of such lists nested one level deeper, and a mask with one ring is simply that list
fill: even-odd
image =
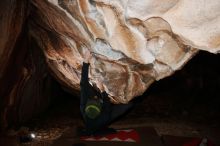
[{"label": "brightly lit cream and brown overhanging rock above the climber", "polygon": [[31,0],[30,30],[54,76],[79,90],[86,50],[91,83],[127,103],[198,50],[220,49],[218,0]]}]

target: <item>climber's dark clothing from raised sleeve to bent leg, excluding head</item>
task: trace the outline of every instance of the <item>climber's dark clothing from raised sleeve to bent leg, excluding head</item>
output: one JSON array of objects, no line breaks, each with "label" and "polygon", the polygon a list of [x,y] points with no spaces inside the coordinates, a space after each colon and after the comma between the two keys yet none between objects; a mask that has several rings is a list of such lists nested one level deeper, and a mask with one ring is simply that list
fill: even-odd
[{"label": "climber's dark clothing from raised sleeve to bent leg, excluding head", "polygon": [[[95,132],[106,128],[113,120],[124,114],[128,109],[133,106],[133,103],[113,105],[109,101],[108,94],[106,92],[100,93],[96,91],[90,84],[88,78],[89,64],[83,63],[82,75],[81,75],[81,99],[80,99],[80,111],[82,113],[84,123],[86,126],[87,134],[94,134]],[[102,100],[101,114],[95,118],[90,119],[85,114],[86,103],[89,98],[97,96]]]}]

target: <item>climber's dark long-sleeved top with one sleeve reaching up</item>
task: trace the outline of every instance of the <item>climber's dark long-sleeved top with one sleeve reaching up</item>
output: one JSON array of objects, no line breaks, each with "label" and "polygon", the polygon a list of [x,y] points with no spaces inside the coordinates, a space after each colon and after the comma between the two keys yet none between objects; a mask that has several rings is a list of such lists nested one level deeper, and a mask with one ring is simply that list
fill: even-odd
[{"label": "climber's dark long-sleeved top with one sleeve reaching up", "polygon": [[[96,91],[90,84],[89,84],[89,78],[88,78],[88,69],[89,64],[83,63],[82,67],[82,76],[81,76],[81,99],[80,99],[80,110],[86,125],[87,132],[89,134],[92,134],[103,127],[106,127],[110,122],[110,116],[111,116],[111,103],[108,99],[108,95],[106,92],[100,93]],[[89,98],[93,98],[94,96],[97,96],[100,100],[102,100],[102,110],[101,114],[96,119],[90,119],[85,115],[85,106],[87,103],[87,100]]]}]

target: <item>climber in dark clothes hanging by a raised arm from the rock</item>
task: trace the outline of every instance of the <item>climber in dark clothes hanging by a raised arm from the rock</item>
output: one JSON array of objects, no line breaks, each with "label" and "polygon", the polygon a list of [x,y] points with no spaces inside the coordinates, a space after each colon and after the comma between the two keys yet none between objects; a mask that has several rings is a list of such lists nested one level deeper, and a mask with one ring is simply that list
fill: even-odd
[{"label": "climber in dark clothes hanging by a raised arm from the rock", "polygon": [[[132,106],[133,102],[128,104],[112,104],[108,94],[104,91],[98,91],[89,83],[88,70],[91,53],[85,53],[83,62],[80,88],[80,111],[84,120],[85,128],[81,130],[81,135],[104,135],[114,133],[115,130],[108,126],[118,117],[126,113]],[[98,83],[97,83],[98,84]],[[99,85],[100,88],[100,85]]]}]

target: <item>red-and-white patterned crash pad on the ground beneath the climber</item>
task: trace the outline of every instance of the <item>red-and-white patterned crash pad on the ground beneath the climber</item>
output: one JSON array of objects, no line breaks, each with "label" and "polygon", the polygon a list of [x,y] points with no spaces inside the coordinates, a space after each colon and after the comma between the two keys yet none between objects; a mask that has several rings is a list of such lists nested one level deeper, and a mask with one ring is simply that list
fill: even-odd
[{"label": "red-and-white patterned crash pad on the ground beneath the climber", "polygon": [[76,128],[68,130],[52,146],[162,146],[154,128],[117,129],[117,133],[103,136],[77,135]]}]

